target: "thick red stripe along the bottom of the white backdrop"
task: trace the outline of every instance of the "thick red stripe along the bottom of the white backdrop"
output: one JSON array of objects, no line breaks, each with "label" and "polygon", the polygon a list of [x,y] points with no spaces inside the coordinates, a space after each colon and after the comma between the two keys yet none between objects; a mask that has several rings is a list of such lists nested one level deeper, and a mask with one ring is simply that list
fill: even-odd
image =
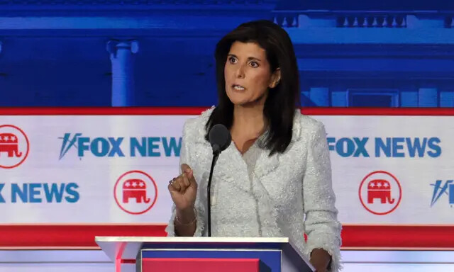
[{"label": "thick red stripe along the bottom of the white backdrop", "polygon": [[[0,247],[94,247],[95,236],[165,236],[165,225],[0,225]],[[453,249],[454,226],[345,225],[345,248]]]}]

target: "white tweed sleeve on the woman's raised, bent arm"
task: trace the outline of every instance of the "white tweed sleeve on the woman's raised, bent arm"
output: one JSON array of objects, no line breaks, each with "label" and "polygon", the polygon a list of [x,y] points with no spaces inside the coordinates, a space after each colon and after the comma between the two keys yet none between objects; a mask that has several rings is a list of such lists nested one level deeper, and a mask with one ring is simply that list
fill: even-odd
[{"label": "white tweed sleeve on the woman's raised, bent arm", "polygon": [[[190,151],[189,151],[189,145],[190,145],[190,129],[191,126],[189,125],[192,120],[187,120],[186,123],[184,123],[184,129],[183,129],[183,136],[182,136],[182,147],[180,149],[179,153],[179,174],[182,174],[181,170],[181,165],[182,164],[187,164],[189,167],[192,167],[194,164],[192,164],[192,159],[190,156]],[[194,170],[194,169],[193,169]],[[195,173],[194,173],[195,176]],[[205,214],[205,209],[204,206],[201,205],[201,201],[199,199],[199,192],[197,192],[196,196],[196,203],[195,203],[195,209],[196,209],[196,231],[194,232],[194,237],[201,237],[204,236],[204,214]],[[170,217],[169,225],[165,228],[165,232],[167,232],[168,237],[175,237],[175,217],[177,215],[175,204],[172,205],[172,216]]]}]

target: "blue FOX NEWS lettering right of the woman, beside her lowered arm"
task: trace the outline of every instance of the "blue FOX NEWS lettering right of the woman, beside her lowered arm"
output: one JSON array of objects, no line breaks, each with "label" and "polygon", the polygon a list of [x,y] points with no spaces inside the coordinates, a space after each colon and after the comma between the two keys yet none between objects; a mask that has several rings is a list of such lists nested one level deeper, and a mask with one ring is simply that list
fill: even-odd
[{"label": "blue FOX NEWS lettering right of the woman, beside her lowered arm", "polygon": [[328,148],[341,157],[414,158],[441,155],[438,137],[328,137]]}]

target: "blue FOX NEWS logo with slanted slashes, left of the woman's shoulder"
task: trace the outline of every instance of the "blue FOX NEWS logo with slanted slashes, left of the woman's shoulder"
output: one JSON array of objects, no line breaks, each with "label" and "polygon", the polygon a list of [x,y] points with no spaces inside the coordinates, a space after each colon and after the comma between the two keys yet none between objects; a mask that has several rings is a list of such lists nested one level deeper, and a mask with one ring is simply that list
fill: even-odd
[{"label": "blue FOX NEWS logo with slanted slashes, left of the woman's shoulder", "polygon": [[78,157],[179,157],[182,138],[176,137],[84,137],[65,133],[60,149],[62,159],[75,149]]}]

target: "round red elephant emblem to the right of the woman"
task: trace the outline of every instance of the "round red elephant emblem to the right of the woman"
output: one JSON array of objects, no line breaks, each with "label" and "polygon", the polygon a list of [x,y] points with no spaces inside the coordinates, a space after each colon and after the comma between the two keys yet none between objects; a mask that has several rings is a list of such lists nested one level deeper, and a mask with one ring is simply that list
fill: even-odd
[{"label": "round red elephant emblem to the right of the woman", "polygon": [[399,180],[387,171],[373,171],[360,183],[362,207],[374,215],[387,215],[400,204],[402,187]]}]

